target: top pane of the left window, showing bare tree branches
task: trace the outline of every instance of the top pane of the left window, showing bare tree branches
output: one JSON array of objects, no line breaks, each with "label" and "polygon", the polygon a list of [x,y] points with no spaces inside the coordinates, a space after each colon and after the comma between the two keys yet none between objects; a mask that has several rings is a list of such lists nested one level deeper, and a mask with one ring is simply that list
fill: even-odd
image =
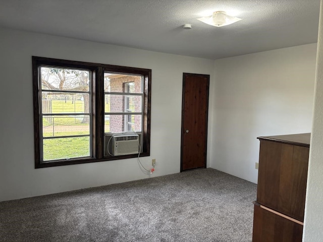
[{"label": "top pane of the left window, showing bare tree branches", "polygon": [[88,91],[89,72],[41,67],[41,88],[43,90]]}]

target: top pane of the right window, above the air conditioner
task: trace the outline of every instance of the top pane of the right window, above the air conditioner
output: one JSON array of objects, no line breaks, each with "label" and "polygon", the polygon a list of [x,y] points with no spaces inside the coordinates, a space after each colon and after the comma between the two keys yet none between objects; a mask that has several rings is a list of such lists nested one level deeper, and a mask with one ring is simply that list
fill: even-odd
[{"label": "top pane of the right window, above the air conditioner", "polygon": [[105,92],[142,93],[142,86],[142,76],[104,73]]}]

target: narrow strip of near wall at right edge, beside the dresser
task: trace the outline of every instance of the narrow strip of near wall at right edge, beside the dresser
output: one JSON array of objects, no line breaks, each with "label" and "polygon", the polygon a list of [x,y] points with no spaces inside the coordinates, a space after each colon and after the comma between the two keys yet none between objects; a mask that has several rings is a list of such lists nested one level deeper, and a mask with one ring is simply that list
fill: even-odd
[{"label": "narrow strip of near wall at right edge, beside the dresser", "polygon": [[310,143],[307,192],[304,218],[304,242],[318,242],[323,238],[323,1],[320,5],[320,21],[317,46],[317,65],[313,127]]}]

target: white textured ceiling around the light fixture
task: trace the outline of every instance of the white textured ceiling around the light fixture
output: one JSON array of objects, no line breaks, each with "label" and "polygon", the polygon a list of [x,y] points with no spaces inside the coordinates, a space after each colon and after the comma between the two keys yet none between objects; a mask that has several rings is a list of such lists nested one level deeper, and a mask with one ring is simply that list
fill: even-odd
[{"label": "white textured ceiling around the light fixture", "polygon": [[[317,42],[319,2],[0,0],[0,26],[217,59]],[[214,11],[243,20],[221,28],[196,20]]]}]

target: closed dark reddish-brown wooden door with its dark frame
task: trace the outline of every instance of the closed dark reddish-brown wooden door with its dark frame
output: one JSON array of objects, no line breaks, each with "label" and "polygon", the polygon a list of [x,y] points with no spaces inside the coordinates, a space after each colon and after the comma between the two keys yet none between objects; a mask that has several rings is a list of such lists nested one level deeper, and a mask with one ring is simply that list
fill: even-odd
[{"label": "closed dark reddish-brown wooden door with its dark frame", "polygon": [[181,171],[206,168],[209,75],[183,73]]}]

